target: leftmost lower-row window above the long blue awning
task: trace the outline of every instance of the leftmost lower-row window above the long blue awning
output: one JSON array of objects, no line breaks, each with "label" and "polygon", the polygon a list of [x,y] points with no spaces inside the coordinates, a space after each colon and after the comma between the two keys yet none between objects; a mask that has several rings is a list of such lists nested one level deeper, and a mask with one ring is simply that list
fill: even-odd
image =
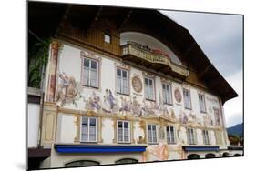
[{"label": "leftmost lower-row window above the long blue awning", "polygon": [[97,142],[97,118],[82,117],[81,142]]}]

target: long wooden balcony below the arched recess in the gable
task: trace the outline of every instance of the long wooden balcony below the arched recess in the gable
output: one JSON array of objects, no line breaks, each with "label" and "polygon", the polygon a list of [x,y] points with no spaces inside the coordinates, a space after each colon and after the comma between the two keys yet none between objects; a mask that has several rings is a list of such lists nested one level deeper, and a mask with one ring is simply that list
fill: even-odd
[{"label": "long wooden balcony below the arched recess in the gable", "polygon": [[180,79],[185,79],[189,75],[189,71],[184,66],[172,63],[169,55],[135,42],[128,42],[128,44],[121,46],[121,57],[124,61],[144,65],[157,72]]}]

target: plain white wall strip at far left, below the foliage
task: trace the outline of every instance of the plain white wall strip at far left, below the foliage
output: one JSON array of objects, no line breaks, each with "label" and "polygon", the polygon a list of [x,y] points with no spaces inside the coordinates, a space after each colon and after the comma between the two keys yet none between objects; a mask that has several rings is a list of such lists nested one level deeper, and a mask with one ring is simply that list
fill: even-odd
[{"label": "plain white wall strip at far left, below the foliage", "polygon": [[28,104],[27,113],[27,146],[37,147],[38,129],[39,129],[40,106],[37,104]]}]

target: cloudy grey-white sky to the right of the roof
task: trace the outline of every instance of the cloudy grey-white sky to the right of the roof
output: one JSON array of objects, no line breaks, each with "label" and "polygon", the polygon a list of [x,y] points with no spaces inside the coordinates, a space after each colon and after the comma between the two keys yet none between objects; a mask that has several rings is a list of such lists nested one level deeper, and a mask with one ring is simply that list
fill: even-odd
[{"label": "cloudy grey-white sky to the right of the roof", "polygon": [[187,28],[204,54],[238,93],[224,104],[227,126],[242,122],[242,16],[160,11]]}]

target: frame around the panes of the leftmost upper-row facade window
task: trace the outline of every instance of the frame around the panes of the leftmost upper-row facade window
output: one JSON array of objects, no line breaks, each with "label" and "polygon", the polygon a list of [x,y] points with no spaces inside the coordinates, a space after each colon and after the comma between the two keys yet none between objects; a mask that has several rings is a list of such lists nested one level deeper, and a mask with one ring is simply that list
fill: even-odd
[{"label": "frame around the panes of the leftmost upper-row facade window", "polygon": [[[92,86],[91,85],[91,83],[90,83],[90,77],[91,77],[90,73],[89,73],[89,84],[88,85],[85,84],[85,73],[86,73],[85,72],[85,60],[86,59],[88,59],[90,61],[90,63],[89,63],[90,65],[91,65],[91,61],[94,61],[97,64],[97,75],[96,75],[97,76],[96,77],[96,81],[97,81],[96,85],[97,86]],[[100,77],[100,75],[99,75],[99,72],[100,72],[99,66],[100,66],[100,62],[99,62],[98,59],[88,57],[88,56],[82,56],[81,85],[87,86],[87,87],[90,87],[90,88],[99,89],[99,81],[100,81],[100,79],[99,79],[99,77]],[[89,72],[90,72],[90,69],[89,69]]]}]

